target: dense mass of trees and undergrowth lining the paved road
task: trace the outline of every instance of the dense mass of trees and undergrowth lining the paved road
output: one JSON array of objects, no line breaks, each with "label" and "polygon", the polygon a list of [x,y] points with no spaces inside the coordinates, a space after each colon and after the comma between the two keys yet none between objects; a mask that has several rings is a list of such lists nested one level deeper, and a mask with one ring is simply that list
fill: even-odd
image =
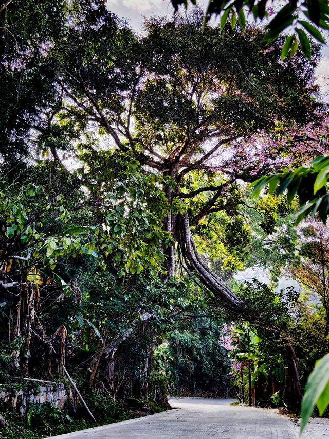
[{"label": "dense mass of trees and undergrowth lining the paved road", "polygon": [[[280,39],[202,32],[198,9],[138,37],[101,1],[0,19],[2,388],[67,371],[105,423],[168,392],[247,400],[249,367],[255,402],[298,410],[328,348],[327,231],[249,183],[327,152],[317,45],[282,62]],[[268,285],[236,280],[255,267]],[[0,409],[5,437],[85,414]]]}]

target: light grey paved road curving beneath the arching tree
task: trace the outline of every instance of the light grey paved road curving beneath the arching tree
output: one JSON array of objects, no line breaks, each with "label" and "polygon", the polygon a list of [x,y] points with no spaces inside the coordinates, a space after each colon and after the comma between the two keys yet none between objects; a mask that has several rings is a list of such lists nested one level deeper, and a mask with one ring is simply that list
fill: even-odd
[{"label": "light grey paved road curving beneath the arching tree", "polygon": [[[232,399],[172,398],[173,410],[56,436],[57,439],[295,439],[299,427],[277,410],[231,406]],[[329,437],[312,424],[303,439]],[[53,438],[54,439],[54,438]]]}]

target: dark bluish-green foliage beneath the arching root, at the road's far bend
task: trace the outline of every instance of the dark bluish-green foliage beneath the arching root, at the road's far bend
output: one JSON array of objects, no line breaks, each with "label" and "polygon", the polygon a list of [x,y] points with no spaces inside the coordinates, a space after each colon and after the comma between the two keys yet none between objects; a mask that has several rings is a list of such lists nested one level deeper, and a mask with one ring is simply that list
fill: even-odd
[{"label": "dark bluish-green foliage beneath the arching root, at the road's far bend", "polygon": [[223,322],[202,315],[183,319],[172,328],[167,336],[166,361],[174,392],[178,388],[192,394],[209,392],[222,397],[235,394],[223,332]]}]

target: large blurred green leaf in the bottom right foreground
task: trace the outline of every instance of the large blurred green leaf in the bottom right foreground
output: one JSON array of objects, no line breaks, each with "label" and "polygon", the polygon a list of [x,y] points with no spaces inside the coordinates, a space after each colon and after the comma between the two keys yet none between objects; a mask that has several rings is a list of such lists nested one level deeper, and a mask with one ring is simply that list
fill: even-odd
[{"label": "large blurred green leaf in the bottom right foreground", "polygon": [[319,411],[323,413],[325,407],[329,403],[328,397],[328,385],[329,385],[329,354],[322,357],[317,363],[309,375],[305,394],[302,399],[301,407],[301,423],[300,434],[302,434],[305,425],[309,417],[312,415],[315,404],[319,401]]}]

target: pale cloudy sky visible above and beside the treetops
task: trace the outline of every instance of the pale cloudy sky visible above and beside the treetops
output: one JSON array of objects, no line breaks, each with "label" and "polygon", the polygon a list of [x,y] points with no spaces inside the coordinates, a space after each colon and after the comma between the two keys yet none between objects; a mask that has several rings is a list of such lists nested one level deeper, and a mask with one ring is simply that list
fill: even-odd
[{"label": "pale cloudy sky visible above and beside the treetops", "polygon": [[[190,2],[189,2],[190,3]],[[198,6],[206,8],[208,0],[198,0]],[[189,4],[189,7],[192,5]],[[172,16],[174,9],[170,0],[107,0],[108,9],[124,19],[138,33],[143,30],[143,17]],[[184,8],[180,7],[184,13]],[[329,38],[327,39],[329,42]],[[322,49],[322,59],[316,70],[316,83],[320,85],[323,100],[329,103],[329,46]]]}]

